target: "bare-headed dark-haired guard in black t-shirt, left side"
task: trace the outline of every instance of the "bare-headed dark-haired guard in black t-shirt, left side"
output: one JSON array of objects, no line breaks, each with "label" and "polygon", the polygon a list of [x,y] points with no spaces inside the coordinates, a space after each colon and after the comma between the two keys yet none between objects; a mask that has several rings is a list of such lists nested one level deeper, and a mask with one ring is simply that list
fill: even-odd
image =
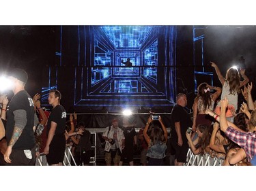
[{"label": "bare-headed dark-haired guard in black t-shirt, left side", "polygon": [[66,110],[60,105],[61,93],[51,90],[48,103],[53,105],[53,110],[47,122],[47,141],[44,154],[49,165],[62,165],[66,150]]}]

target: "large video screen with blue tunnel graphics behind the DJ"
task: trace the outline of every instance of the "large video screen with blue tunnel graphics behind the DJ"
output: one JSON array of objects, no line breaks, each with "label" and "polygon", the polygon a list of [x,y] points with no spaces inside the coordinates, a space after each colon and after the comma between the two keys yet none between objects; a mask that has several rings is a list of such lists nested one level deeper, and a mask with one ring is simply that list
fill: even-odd
[{"label": "large video screen with blue tunnel graphics behind the DJ", "polygon": [[58,34],[57,67],[47,71],[43,97],[68,80],[59,73],[69,67],[75,107],[173,105],[175,27],[62,26]]}]

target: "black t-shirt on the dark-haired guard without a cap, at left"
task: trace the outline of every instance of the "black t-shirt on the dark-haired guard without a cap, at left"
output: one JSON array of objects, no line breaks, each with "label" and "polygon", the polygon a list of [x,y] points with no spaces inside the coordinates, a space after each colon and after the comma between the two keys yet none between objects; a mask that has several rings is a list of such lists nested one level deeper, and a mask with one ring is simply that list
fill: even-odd
[{"label": "black t-shirt on the dark-haired guard without a cap, at left", "polygon": [[67,116],[66,110],[64,109],[64,107],[62,107],[62,105],[57,105],[56,107],[53,108],[47,122],[47,133],[46,133],[47,136],[51,128],[51,122],[57,123],[55,135],[61,135],[65,133],[66,116]]}]

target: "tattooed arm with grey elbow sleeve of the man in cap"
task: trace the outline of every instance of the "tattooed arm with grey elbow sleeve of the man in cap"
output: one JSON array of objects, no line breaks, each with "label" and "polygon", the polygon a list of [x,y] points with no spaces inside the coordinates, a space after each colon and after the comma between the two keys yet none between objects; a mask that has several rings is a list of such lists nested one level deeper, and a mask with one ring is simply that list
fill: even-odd
[{"label": "tattooed arm with grey elbow sleeve of the man in cap", "polygon": [[5,162],[12,162],[10,160],[10,154],[12,153],[12,147],[15,145],[18,138],[20,138],[21,133],[23,133],[23,129],[25,128],[27,124],[27,112],[23,109],[18,109],[14,111],[14,131],[12,133],[12,138],[10,139],[10,142],[8,143],[7,150],[4,154],[4,160]]}]

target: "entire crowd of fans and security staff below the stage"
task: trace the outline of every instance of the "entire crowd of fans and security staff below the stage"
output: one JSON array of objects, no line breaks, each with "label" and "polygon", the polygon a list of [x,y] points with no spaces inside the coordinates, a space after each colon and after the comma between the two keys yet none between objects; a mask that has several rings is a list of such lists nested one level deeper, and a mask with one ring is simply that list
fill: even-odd
[{"label": "entire crowd of fans and security staff below the stage", "polygon": [[[222,87],[203,82],[197,88],[193,102],[193,117],[185,109],[186,94],[177,94],[171,111],[170,145],[175,166],[188,162],[187,153],[222,156],[223,165],[255,165],[256,162],[256,101],[253,101],[252,82],[245,70],[227,69],[225,77],[211,62]],[[44,111],[40,94],[33,98],[25,90],[28,76],[23,69],[9,73],[14,96],[11,101],[1,95],[0,164],[35,165],[40,153],[48,165],[63,165],[66,147],[72,147],[72,165],[89,165],[91,133],[77,114],[67,119],[61,105],[61,92],[50,90],[48,103],[51,112]],[[241,79],[242,77],[242,79]],[[245,102],[238,105],[238,95]],[[221,97],[219,99],[219,97]],[[122,122],[120,126],[120,121]],[[145,126],[135,131],[131,118],[113,118],[104,129],[104,160],[106,165],[134,165],[134,151],[140,146],[140,165],[165,165],[167,128],[161,116],[149,114]]]}]

